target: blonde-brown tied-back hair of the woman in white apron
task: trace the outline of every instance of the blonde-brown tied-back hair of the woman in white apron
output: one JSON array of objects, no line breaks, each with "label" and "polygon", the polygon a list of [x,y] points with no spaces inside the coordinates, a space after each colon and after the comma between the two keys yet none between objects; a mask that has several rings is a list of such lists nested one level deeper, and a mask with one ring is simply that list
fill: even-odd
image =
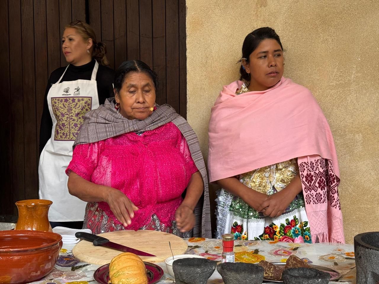
[{"label": "blonde-brown tied-back hair of the woman in white apron", "polygon": [[84,41],[88,41],[88,39],[92,39],[92,47],[90,48],[92,58],[96,59],[102,65],[108,66],[109,61],[106,58],[106,47],[105,43],[96,41],[96,34],[94,30],[92,30],[91,26],[88,23],[82,22],[80,20],[69,23],[64,27],[66,28],[74,28],[81,37],[83,37]]}]

